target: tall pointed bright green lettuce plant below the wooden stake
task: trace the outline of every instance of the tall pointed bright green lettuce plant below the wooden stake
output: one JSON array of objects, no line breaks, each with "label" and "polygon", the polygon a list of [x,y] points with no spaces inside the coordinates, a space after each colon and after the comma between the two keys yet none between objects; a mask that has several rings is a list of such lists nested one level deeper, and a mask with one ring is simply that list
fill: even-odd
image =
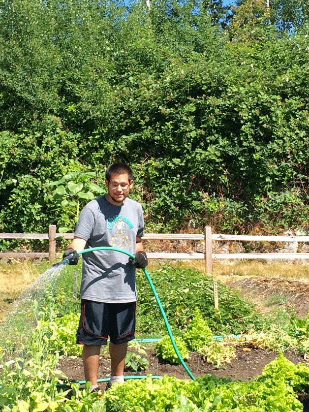
[{"label": "tall pointed bright green lettuce plant below the wooden stake", "polygon": [[198,307],[194,308],[193,317],[183,331],[182,338],[189,350],[197,352],[213,340],[213,333]]}]

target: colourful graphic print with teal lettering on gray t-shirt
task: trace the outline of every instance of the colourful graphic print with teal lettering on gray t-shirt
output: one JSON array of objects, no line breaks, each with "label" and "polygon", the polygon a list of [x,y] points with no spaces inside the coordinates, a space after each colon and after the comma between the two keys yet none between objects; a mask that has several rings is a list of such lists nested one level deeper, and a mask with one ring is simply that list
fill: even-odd
[{"label": "colourful graphic print with teal lettering on gray t-shirt", "polygon": [[110,218],[107,222],[107,229],[113,231],[111,246],[124,249],[132,246],[128,231],[134,227],[134,224],[123,215],[117,215]]}]

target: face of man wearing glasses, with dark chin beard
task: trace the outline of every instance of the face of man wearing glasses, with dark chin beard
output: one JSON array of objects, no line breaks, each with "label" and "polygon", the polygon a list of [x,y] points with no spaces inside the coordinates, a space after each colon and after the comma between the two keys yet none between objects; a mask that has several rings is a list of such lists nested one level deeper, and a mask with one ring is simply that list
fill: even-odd
[{"label": "face of man wearing glasses, with dark chin beard", "polygon": [[112,173],[110,181],[105,180],[105,185],[108,189],[108,201],[115,206],[120,206],[124,203],[130,189],[132,189],[133,180],[129,180],[127,173],[120,175]]}]

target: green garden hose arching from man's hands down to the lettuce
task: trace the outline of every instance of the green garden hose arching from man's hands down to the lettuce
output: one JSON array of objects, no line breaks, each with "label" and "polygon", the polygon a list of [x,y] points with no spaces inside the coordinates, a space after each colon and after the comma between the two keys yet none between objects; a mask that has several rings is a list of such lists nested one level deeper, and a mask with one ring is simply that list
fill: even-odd
[{"label": "green garden hose arching from man's hands down to the lettuce", "polygon": [[[135,257],[134,254],[131,254],[130,252],[126,252],[126,251],[124,251],[124,250],[122,250],[122,249],[113,248],[113,247],[110,247],[110,246],[101,246],[101,247],[98,247],[98,248],[84,249],[84,250],[82,250],[82,251],[80,251],[80,252],[77,252],[77,253],[78,253],[78,254],[84,254],[84,253],[95,252],[95,251],[115,251],[115,252],[120,252],[120,253],[126,254],[126,255],[128,255],[129,257],[132,257],[132,258]],[[66,263],[69,263],[69,259],[63,259],[63,261],[65,261]],[[146,278],[147,278],[147,280],[148,280],[148,282],[149,282],[149,285],[150,285],[150,287],[151,287],[151,289],[152,289],[152,291],[153,291],[153,293],[154,293],[154,295],[155,295],[156,303],[157,303],[158,306],[159,306],[159,309],[160,309],[160,312],[161,312],[161,314],[162,314],[162,317],[163,317],[165,326],[166,326],[166,328],[167,328],[167,332],[168,332],[169,337],[170,337],[170,339],[171,339],[173,348],[175,349],[175,352],[176,352],[176,354],[177,354],[177,356],[178,356],[178,359],[180,360],[181,364],[182,364],[183,367],[185,368],[185,371],[186,371],[186,373],[189,375],[189,377],[190,377],[192,380],[195,380],[195,378],[194,378],[194,376],[192,375],[191,371],[190,371],[189,368],[186,366],[184,359],[182,358],[181,354],[179,353],[179,350],[178,350],[178,348],[177,348],[177,345],[176,345],[176,343],[175,343],[175,340],[174,340],[174,337],[173,337],[173,334],[172,334],[171,327],[170,327],[170,325],[169,325],[169,323],[168,323],[168,320],[167,320],[167,317],[166,317],[166,315],[165,315],[164,309],[163,309],[163,307],[162,307],[162,304],[161,304],[161,302],[160,302],[160,299],[159,299],[159,297],[158,297],[158,294],[156,293],[155,286],[154,286],[154,284],[153,284],[153,282],[152,282],[152,280],[151,280],[151,278],[150,278],[150,276],[149,276],[149,273],[147,272],[147,270],[146,270],[145,268],[143,268],[143,272],[145,273]]]}]

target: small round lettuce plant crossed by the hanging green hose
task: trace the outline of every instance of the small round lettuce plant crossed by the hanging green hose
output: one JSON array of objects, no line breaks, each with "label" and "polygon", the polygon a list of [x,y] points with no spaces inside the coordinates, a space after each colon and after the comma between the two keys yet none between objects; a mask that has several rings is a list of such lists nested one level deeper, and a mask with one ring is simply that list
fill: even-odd
[{"label": "small round lettuce plant crossed by the hanging green hose", "polygon": [[[185,345],[185,341],[180,336],[174,337],[175,344],[181,355],[181,357],[186,360],[189,358],[189,352]],[[171,338],[166,335],[160,339],[155,345],[156,355],[159,359],[168,363],[181,363],[178,358],[174,346],[172,344]]]}]

